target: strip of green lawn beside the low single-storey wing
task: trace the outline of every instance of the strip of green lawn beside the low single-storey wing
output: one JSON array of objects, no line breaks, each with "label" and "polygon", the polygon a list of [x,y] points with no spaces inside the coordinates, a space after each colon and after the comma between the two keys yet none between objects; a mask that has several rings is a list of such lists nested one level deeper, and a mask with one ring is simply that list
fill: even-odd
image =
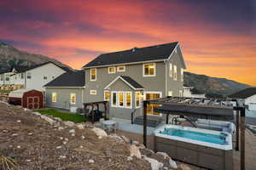
[{"label": "strip of green lawn beside the low single-storey wing", "polygon": [[77,115],[74,113],[67,113],[64,111],[55,111],[54,109],[38,110],[42,115],[49,115],[54,117],[61,118],[62,121],[71,121],[71,122],[84,122],[84,116]]}]

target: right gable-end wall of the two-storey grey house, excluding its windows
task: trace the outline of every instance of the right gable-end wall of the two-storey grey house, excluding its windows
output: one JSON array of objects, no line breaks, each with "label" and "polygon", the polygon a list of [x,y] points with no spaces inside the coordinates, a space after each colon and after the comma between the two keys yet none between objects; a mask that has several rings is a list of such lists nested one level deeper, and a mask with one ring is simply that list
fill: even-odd
[{"label": "right gable-end wall of the two-storey grey house, excluding its windows", "polygon": [[[172,96],[179,96],[179,91],[183,91],[183,81],[181,80],[181,68],[182,66],[182,60],[181,60],[181,50],[180,48],[177,48],[177,53],[174,52],[172,54],[171,59],[167,60],[166,62],[166,94],[168,95],[169,91],[172,91]],[[170,69],[170,63],[172,63],[172,77],[170,77],[169,69]],[[173,65],[177,65],[177,81],[173,79]],[[184,69],[184,68],[183,68]]]}]

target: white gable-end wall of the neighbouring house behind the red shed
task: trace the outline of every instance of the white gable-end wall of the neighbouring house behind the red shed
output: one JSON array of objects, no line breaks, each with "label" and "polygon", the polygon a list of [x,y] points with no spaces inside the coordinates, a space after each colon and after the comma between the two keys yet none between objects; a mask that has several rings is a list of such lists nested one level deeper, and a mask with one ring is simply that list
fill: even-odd
[{"label": "white gable-end wall of the neighbouring house behind the red shed", "polygon": [[[52,63],[32,69],[31,71],[26,71],[26,88],[45,91],[45,88],[43,88],[44,85],[56,77],[61,76],[64,72],[60,67]],[[31,73],[31,79],[27,78],[28,73]],[[44,77],[47,77],[47,79],[44,80]]]}]

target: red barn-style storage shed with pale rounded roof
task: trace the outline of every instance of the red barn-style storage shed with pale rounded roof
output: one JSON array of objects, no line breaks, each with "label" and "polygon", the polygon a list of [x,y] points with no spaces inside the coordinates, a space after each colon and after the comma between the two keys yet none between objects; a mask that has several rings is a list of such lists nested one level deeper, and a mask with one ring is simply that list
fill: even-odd
[{"label": "red barn-style storage shed with pale rounded roof", "polygon": [[43,108],[44,94],[34,89],[19,89],[9,93],[9,104],[21,105],[27,109]]}]

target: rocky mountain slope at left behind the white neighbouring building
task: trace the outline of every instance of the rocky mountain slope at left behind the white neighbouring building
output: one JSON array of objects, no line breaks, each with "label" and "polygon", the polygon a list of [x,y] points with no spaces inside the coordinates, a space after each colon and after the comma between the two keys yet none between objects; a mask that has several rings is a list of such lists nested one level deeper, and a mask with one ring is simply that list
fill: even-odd
[{"label": "rocky mountain slope at left behind the white neighbouring building", "polygon": [[73,70],[70,66],[64,65],[56,59],[41,54],[29,54],[20,51],[9,44],[0,42],[0,71],[7,70],[13,65],[38,65],[48,61],[52,61],[56,65]]}]

